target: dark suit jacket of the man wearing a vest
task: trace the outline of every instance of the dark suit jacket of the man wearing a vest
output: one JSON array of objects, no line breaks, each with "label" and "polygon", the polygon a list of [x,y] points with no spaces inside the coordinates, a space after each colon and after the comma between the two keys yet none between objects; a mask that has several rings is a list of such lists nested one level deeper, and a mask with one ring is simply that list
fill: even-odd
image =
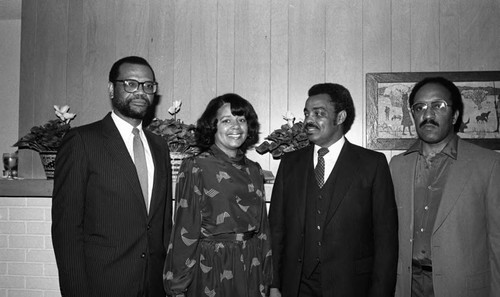
[{"label": "dark suit jacket of the man wearing a vest", "polygon": [[[297,296],[299,290],[313,152],[308,146],[284,155],[273,186],[273,287],[284,297]],[[392,296],[398,218],[385,156],[346,141],[326,183],[333,183],[334,190],[321,228],[323,296]]]}]

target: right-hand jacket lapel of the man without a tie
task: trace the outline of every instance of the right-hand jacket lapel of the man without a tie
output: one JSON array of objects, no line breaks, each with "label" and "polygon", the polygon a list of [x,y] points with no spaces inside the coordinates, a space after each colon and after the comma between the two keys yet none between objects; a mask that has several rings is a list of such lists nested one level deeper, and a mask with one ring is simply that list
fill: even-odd
[{"label": "right-hand jacket lapel of the man without a tie", "polygon": [[457,160],[449,168],[448,178],[445,183],[443,190],[443,197],[441,198],[441,204],[439,205],[438,213],[436,216],[436,221],[434,223],[433,233],[439,229],[443,224],[444,220],[455,206],[457,200],[460,198],[464,186],[467,184],[469,179],[468,168],[470,167],[470,159],[467,156],[467,152],[463,150],[463,146],[458,148]]}]

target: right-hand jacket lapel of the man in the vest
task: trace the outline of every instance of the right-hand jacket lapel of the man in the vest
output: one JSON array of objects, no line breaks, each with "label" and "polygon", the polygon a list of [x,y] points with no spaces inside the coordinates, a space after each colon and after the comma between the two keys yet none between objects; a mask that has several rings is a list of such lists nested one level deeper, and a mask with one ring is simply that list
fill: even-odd
[{"label": "right-hand jacket lapel of the man in the vest", "polygon": [[325,225],[333,218],[339,208],[340,203],[346,197],[351,188],[354,177],[359,168],[359,157],[354,152],[352,144],[347,140],[340,151],[335,167],[327,180],[327,187],[333,187],[330,196],[330,204],[326,215]]}]

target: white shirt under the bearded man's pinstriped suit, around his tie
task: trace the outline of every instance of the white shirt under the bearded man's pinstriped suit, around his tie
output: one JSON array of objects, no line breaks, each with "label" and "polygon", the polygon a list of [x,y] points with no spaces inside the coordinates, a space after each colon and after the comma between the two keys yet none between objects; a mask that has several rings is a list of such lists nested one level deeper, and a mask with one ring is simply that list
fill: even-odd
[{"label": "white shirt under the bearded man's pinstriped suit, around his tie", "polygon": [[[132,158],[132,162],[134,161],[134,134],[132,134],[132,129],[134,126],[127,123],[124,119],[120,118],[113,111],[111,112],[111,118],[113,122],[115,122],[116,128],[118,128],[118,132],[125,142],[125,146],[127,147],[128,153]],[[149,149],[149,143],[146,139],[146,135],[144,135],[144,131],[142,131],[142,123],[139,126],[135,127],[139,129],[139,136],[141,137],[142,143],[144,144],[144,152],[146,153],[146,165],[148,166],[148,206],[151,205],[151,193],[153,192],[153,180],[154,180],[154,172],[155,165],[153,163],[153,156],[151,155],[151,150]],[[149,211],[149,209],[148,209]]]}]

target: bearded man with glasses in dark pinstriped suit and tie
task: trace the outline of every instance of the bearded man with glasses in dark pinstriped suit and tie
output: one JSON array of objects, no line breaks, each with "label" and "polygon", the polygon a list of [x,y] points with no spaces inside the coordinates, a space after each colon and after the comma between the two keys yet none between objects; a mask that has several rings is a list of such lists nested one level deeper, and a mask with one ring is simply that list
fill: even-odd
[{"label": "bearded man with glasses in dark pinstriped suit and tie", "polygon": [[72,129],[58,151],[52,240],[63,296],[165,296],[169,151],[141,127],[156,88],[143,58],[115,62],[113,111]]}]

